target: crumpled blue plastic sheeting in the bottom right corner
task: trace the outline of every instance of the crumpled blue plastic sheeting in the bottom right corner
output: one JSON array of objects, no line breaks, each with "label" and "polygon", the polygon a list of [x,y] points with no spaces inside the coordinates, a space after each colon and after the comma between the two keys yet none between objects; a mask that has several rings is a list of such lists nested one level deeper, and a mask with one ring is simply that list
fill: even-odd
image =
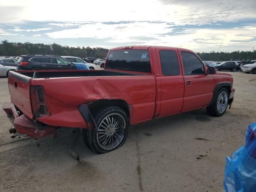
[{"label": "crumpled blue plastic sheeting in the bottom right corner", "polygon": [[256,192],[256,123],[248,126],[244,146],[226,157],[224,189]]}]

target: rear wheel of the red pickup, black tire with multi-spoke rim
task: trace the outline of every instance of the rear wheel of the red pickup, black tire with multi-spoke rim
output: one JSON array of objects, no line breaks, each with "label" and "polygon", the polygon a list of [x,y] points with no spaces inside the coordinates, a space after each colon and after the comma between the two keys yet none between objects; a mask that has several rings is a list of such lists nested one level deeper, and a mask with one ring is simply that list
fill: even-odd
[{"label": "rear wheel of the red pickup, black tire with multi-spoke rim", "polygon": [[97,112],[94,116],[98,127],[84,129],[86,145],[98,154],[116,150],[122,146],[128,135],[128,118],[126,112],[119,107],[111,106]]}]

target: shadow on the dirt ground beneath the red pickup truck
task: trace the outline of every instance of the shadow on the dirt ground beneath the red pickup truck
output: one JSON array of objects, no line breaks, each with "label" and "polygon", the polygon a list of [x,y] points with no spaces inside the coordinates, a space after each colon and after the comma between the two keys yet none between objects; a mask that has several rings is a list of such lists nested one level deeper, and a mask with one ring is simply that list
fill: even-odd
[{"label": "shadow on the dirt ground beneath the red pickup truck", "polygon": [[[140,123],[135,126],[130,126],[128,138],[122,148],[128,148],[131,143],[139,140],[143,142],[143,138],[147,138],[148,136],[154,137],[154,135],[166,132],[166,129],[171,134],[171,132],[182,127],[184,119],[186,119],[185,123],[189,124],[190,121],[193,122],[195,120],[198,122],[209,122],[214,120],[214,117],[208,116],[204,109],[200,109],[193,112],[176,114]],[[62,158],[62,161],[70,161],[74,160],[68,151],[68,148],[75,136],[73,134],[73,130],[74,129],[70,128],[61,128],[57,131],[57,138],[52,138],[52,136],[40,138],[38,140],[34,140],[33,138],[26,140],[23,140],[22,138],[15,138],[8,145],[12,145],[12,143],[15,144],[14,148],[12,148],[12,152],[16,150],[24,151],[27,156],[40,158],[40,160],[47,160],[50,157],[51,159]],[[100,157],[99,154],[92,152],[84,143],[82,129],[80,130],[80,137],[74,147],[74,150],[79,154],[80,160],[84,160],[92,156]]]}]

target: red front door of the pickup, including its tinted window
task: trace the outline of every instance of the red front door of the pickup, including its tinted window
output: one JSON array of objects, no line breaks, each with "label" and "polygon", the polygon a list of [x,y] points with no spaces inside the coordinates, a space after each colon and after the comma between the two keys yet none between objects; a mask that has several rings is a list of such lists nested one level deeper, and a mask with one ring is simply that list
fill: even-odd
[{"label": "red front door of the pickup, including its tinted window", "polygon": [[184,74],[184,104],[182,112],[208,106],[213,96],[213,75],[194,52],[178,49]]}]

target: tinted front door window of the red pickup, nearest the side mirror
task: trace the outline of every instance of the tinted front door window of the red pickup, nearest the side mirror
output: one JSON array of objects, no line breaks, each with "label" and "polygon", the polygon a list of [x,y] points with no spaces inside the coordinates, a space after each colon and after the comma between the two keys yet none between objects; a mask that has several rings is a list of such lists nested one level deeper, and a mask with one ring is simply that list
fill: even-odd
[{"label": "tinted front door window of the red pickup, nearest the side mirror", "polygon": [[181,52],[186,75],[204,74],[204,65],[198,57],[189,52]]}]

